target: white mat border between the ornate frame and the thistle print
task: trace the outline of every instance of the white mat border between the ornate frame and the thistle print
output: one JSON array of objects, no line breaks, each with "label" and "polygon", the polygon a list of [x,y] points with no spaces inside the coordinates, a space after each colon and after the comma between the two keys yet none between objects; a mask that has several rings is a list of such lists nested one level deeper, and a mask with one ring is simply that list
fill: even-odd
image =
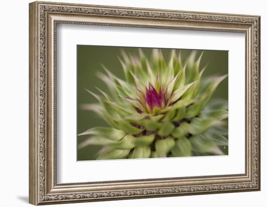
[{"label": "white mat border between the ornate frame and the thistle print", "polygon": [[[245,173],[244,33],[60,24],[57,40],[58,183]],[[77,162],[77,45],[229,50],[229,156]]]}]

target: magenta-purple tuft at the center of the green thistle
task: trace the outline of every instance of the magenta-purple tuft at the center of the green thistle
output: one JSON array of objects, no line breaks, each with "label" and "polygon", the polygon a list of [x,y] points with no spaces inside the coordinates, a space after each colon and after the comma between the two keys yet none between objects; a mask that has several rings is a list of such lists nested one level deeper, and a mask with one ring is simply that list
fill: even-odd
[{"label": "magenta-purple tuft at the center of the green thistle", "polygon": [[161,108],[163,103],[163,93],[162,88],[160,87],[159,93],[156,91],[156,89],[150,84],[149,88],[146,88],[146,96],[145,101],[149,105],[150,109],[153,110],[154,107]]}]

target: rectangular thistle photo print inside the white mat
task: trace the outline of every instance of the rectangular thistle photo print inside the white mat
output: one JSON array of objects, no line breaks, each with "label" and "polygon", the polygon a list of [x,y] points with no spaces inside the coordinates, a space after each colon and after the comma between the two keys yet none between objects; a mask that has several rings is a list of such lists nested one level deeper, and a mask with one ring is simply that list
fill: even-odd
[{"label": "rectangular thistle photo print inside the white mat", "polygon": [[228,51],[77,46],[79,160],[228,155]]}]

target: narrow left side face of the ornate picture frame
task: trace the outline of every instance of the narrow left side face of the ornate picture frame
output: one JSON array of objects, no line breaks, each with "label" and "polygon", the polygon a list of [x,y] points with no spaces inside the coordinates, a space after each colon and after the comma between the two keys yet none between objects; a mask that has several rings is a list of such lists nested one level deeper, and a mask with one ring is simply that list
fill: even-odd
[{"label": "narrow left side face of the ornate picture frame", "polygon": [[38,9],[29,3],[29,203],[39,203],[38,183]]}]

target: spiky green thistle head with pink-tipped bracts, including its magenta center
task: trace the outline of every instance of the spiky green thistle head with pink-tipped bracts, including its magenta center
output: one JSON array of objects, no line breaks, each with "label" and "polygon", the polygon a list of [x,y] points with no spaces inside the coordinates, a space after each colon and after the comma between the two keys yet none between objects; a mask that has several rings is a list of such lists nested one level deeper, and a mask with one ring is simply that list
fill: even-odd
[{"label": "spiky green thistle head with pink-tipped bracts, including its magenta center", "polygon": [[150,58],[122,52],[119,58],[125,80],[107,68],[98,76],[109,93],[88,91],[98,103],[95,111],[110,127],[93,127],[80,135],[90,137],[80,145],[100,145],[97,159],[134,159],[223,155],[228,146],[228,104],[212,99],[224,76],[201,79],[197,51],[182,62],[181,51],[168,62],[160,49]]}]

